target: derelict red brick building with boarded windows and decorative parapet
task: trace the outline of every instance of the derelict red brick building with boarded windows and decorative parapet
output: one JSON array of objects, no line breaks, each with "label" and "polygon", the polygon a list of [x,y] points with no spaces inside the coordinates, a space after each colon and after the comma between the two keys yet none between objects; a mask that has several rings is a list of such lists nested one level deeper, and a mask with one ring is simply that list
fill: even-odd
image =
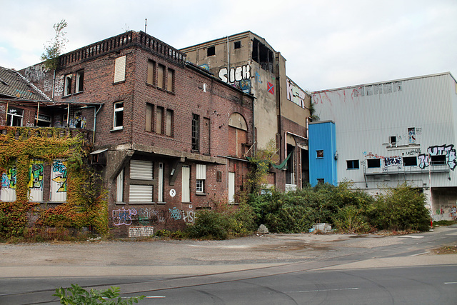
[{"label": "derelict red brick building with boarded windows and decorative parapet", "polygon": [[184,53],[129,31],[60,56],[55,76],[43,64],[20,72],[64,105],[51,126],[93,131],[91,161],[109,191],[115,234],[179,229],[197,209],[236,202],[253,97]]}]

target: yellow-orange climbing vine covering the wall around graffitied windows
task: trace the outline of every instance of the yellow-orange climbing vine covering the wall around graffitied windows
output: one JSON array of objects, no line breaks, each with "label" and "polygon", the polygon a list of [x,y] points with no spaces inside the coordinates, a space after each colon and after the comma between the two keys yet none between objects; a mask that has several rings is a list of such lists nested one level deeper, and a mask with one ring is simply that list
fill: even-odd
[{"label": "yellow-orange climbing vine covering the wall around graffitied windows", "polygon": [[[71,136],[65,129],[0,126],[0,171],[16,168],[16,201],[0,202],[0,236],[21,236],[31,210],[39,214],[36,227],[92,226],[106,233],[106,192],[101,178],[85,162],[89,149],[81,135]],[[41,209],[39,203],[29,202],[29,167],[36,159],[48,164],[67,160],[67,200],[55,208]]]}]

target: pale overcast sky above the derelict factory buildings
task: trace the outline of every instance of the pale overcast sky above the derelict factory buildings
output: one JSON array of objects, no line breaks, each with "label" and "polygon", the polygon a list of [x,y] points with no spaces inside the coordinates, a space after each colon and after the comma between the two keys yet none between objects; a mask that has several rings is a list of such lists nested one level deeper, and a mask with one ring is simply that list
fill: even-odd
[{"label": "pale overcast sky above the derelict factory buildings", "polygon": [[457,77],[456,0],[0,0],[0,66],[36,64],[65,19],[65,51],[126,30],[177,49],[253,31],[317,91],[450,71]]}]

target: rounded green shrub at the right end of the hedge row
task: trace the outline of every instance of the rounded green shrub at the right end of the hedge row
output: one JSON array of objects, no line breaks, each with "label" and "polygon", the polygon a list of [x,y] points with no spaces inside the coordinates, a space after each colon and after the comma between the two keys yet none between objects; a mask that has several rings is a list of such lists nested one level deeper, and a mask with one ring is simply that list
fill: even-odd
[{"label": "rounded green shrub at the right end of the hedge row", "polygon": [[376,196],[371,222],[378,229],[426,231],[430,227],[430,213],[425,196],[417,189],[402,184]]}]

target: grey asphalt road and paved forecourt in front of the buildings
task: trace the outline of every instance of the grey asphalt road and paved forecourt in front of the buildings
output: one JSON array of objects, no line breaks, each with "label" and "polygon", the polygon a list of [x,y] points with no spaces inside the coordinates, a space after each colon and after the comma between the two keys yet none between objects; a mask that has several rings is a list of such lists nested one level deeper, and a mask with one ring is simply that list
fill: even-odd
[{"label": "grey asphalt road and paved forecourt in front of the buildings", "polygon": [[140,304],[457,304],[457,227],[407,236],[268,234],[229,241],[0,244],[0,304],[119,286]]}]

